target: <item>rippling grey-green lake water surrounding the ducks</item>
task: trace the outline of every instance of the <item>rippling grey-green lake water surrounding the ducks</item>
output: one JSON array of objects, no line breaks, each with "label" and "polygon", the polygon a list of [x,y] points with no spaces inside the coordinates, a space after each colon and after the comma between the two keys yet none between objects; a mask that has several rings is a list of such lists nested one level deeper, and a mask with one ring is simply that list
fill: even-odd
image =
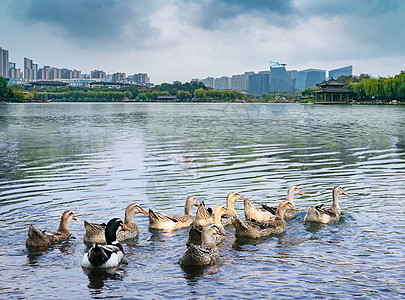
[{"label": "rippling grey-green lake water surrounding the ducks", "polygon": [[[350,194],[341,220],[304,223],[336,184]],[[292,185],[307,196],[286,232],[227,228],[215,266],[183,270],[188,231],[151,233],[137,215],[115,272],[80,267],[83,220],[130,203],[181,215],[188,195],[277,204]],[[0,298],[404,298],[404,194],[405,106],[0,104]],[[73,238],[28,251],[29,225],[56,230],[67,208]]]}]

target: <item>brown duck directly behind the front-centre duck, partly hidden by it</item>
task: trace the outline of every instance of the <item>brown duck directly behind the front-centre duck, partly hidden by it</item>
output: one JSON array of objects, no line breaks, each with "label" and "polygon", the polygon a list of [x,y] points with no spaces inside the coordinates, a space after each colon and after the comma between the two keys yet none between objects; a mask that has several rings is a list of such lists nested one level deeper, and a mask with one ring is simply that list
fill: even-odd
[{"label": "brown duck directly behind the front-centre duck, partly hidden by it", "polygon": [[[198,214],[199,210],[200,211],[205,210],[205,212]],[[188,233],[186,245],[187,246],[190,246],[191,244],[201,245],[203,227],[210,223],[214,223],[221,232],[225,232],[225,228],[221,223],[221,216],[226,213],[227,213],[226,208],[223,205],[218,204],[214,207],[211,217],[211,215],[209,215],[208,213],[208,210],[205,209],[204,201],[201,201],[197,209],[194,225],[191,226],[190,231]],[[224,238],[223,235],[216,235],[215,243],[216,244],[220,243],[223,240],[223,238]]]}]

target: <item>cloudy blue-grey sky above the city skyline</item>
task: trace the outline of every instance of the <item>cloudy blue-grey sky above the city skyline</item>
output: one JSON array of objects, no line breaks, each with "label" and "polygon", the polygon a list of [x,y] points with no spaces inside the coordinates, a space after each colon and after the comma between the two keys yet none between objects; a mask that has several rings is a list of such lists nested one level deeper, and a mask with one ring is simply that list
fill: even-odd
[{"label": "cloudy blue-grey sky above the city skyline", "polygon": [[405,70],[402,0],[0,0],[0,47],[23,69],[148,73],[188,82],[269,70],[395,76]]}]

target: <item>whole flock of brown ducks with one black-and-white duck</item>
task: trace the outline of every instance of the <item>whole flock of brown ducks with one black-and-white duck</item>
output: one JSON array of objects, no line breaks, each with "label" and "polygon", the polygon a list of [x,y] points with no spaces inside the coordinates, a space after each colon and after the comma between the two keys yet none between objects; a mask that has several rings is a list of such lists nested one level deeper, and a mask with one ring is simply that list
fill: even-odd
[{"label": "whole flock of brown ducks with one black-and-white duck", "polygon": [[[204,201],[197,202],[190,196],[186,200],[183,216],[171,216],[149,209],[146,212],[137,204],[128,205],[125,211],[125,221],[119,218],[111,219],[107,224],[93,224],[84,221],[86,233],[84,242],[93,243],[93,247],[83,255],[83,268],[116,267],[124,258],[124,248],[120,242],[134,238],[139,228],[134,222],[134,215],[141,213],[149,216],[149,228],[153,230],[171,231],[178,228],[190,227],[187,249],[180,256],[179,263],[184,266],[212,265],[220,257],[217,245],[225,236],[225,227],[233,225],[236,237],[260,238],[271,234],[281,234],[286,229],[285,219],[294,218],[297,209],[294,206],[294,195],[305,195],[298,187],[290,187],[287,199],[277,207],[255,207],[249,199],[238,193],[229,193],[226,208],[217,205],[214,209],[206,208]],[[324,209],[323,204],[310,207],[304,217],[305,222],[331,223],[339,220],[341,209],[339,195],[348,195],[337,185],[332,192],[332,206]],[[234,204],[237,200],[244,201],[245,220],[239,218]],[[192,215],[193,206],[198,206],[195,217]],[[67,240],[70,236],[69,221],[76,220],[72,211],[66,210],[61,217],[58,230],[48,232],[36,229],[30,225],[27,247],[45,248],[52,244]]]}]

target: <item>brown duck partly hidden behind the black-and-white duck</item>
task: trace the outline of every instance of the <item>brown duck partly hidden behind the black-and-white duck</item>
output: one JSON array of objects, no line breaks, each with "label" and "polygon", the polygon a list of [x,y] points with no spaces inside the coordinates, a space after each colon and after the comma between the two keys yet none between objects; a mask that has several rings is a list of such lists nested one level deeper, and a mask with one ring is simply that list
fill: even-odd
[{"label": "brown duck partly hidden behind the black-and-white duck", "polygon": [[[125,209],[125,219],[124,224],[131,229],[131,231],[120,230],[117,232],[117,241],[122,242],[127,239],[135,238],[139,234],[138,225],[134,222],[134,216],[138,213],[147,215],[148,212],[145,211],[138,204],[130,204]],[[84,221],[84,228],[86,233],[84,234],[83,240],[86,243],[98,243],[105,244],[105,228],[106,224],[94,224],[88,221]]]}]

